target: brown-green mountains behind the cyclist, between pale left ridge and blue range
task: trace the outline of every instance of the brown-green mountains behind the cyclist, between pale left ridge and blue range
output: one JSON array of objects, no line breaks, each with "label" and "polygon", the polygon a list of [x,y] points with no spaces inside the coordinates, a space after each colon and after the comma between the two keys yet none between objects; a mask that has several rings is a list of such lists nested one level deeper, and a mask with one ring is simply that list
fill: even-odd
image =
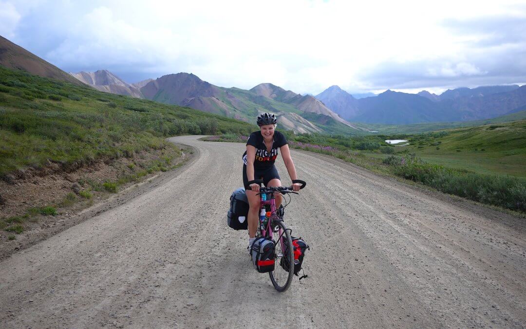
[{"label": "brown-green mountains behind the cyclist, between pale left ridge and blue range", "polygon": [[248,122],[253,121],[259,112],[272,112],[280,117],[280,125],[297,133],[322,132],[316,122],[302,117],[310,112],[327,116],[341,127],[352,127],[316,98],[285,91],[272,84],[260,84],[247,91],[218,87],[192,73],[177,73],[148,82],[140,92],[153,101],[188,106]]}]

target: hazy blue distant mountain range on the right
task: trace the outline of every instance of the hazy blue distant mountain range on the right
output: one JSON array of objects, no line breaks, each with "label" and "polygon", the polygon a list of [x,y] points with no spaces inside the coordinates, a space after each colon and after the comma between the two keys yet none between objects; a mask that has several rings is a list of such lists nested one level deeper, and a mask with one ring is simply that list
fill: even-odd
[{"label": "hazy blue distant mountain range on the right", "polygon": [[357,99],[338,86],[316,96],[343,119],[380,124],[471,121],[518,112],[526,105],[526,85],[448,89],[441,95],[387,90]]}]

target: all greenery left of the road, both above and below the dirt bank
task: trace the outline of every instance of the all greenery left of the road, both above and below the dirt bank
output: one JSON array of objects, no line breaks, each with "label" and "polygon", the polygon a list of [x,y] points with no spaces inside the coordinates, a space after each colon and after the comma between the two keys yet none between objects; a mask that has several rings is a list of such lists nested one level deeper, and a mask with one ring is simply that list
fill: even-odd
[{"label": "all greenery left of the road, both above and below the dirt bank", "polygon": [[[130,162],[144,152],[163,154],[160,159],[129,163],[115,180],[81,180],[77,191],[67,193],[63,200],[0,217],[0,230],[14,240],[28,222],[56,216],[75,205],[89,206],[95,198],[117,193],[127,183],[175,168],[181,150],[166,142],[166,137],[248,134],[254,129],[187,107],[103,93],[0,66],[0,179],[7,184],[15,184],[28,172],[45,174],[50,167],[54,172],[57,168],[74,172],[97,161]],[[5,202],[0,191],[0,205]]]}]

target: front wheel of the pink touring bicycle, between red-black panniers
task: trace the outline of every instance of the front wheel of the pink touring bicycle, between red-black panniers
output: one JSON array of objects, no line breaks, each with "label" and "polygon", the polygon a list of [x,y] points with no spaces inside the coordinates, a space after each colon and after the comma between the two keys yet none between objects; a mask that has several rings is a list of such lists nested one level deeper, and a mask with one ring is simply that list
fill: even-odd
[{"label": "front wheel of the pink touring bicycle, between red-black panniers", "polygon": [[[286,291],[292,282],[292,275],[294,275],[294,250],[292,249],[292,238],[290,237],[290,230],[283,221],[275,223],[279,227],[278,232],[274,233],[275,244],[275,266],[274,271],[269,272],[270,281],[277,291]],[[282,233],[282,234],[281,234]],[[281,235],[281,239],[279,236]]]}]

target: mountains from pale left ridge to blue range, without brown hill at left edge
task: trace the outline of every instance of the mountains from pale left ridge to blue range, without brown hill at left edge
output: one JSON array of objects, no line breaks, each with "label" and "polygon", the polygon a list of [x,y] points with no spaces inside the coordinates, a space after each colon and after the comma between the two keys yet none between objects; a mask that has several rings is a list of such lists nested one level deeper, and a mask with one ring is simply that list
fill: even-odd
[{"label": "mountains from pale left ridge to blue range, without brown hill at left edge", "polygon": [[[319,127],[316,121],[336,125],[340,131],[358,129],[315,97],[285,91],[272,84],[260,84],[247,91],[215,86],[191,73],[168,74],[136,84],[128,84],[107,70],[70,74],[100,91],[187,106],[247,122],[254,121],[259,112],[272,112],[278,115],[280,125],[296,133],[327,132],[327,128]],[[316,116],[305,118],[311,113]]]}]

